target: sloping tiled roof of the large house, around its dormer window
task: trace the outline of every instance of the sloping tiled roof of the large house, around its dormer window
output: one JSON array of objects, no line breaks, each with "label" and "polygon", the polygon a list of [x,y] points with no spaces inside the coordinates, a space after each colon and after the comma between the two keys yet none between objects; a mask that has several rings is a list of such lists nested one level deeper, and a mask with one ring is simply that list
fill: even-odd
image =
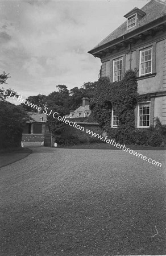
[{"label": "sloping tiled roof of the large house, around its dormer window", "polygon": [[[135,10],[137,7],[134,8]],[[132,9],[132,10],[134,10]],[[138,24],[136,24],[135,27],[131,28],[130,30],[127,30],[127,20],[124,22],[121,26],[119,26],[116,30],[111,32],[109,36],[107,36],[105,39],[103,39],[99,44],[97,44],[96,47],[93,49],[96,49],[100,46],[103,46],[106,43],[109,43],[123,35],[128,34],[131,31],[136,30],[137,28],[143,27],[144,25],[151,23],[152,21],[161,18],[166,14],[166,2],[165,0],[151,0],[148,2],[145,6],[143,6],[142,10],[146,15],[143,16],[142,19],[139,20]],[[93,51],[93,49],[91,51]],[[91,53],[89,51],[89,53]]]}]

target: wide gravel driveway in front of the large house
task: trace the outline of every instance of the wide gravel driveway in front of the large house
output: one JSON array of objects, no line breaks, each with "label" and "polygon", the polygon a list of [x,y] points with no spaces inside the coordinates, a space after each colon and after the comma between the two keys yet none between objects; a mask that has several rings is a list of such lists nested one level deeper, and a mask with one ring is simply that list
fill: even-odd
[{"label": "wide gravel driveway in front of the large house", "polygon": [[0,169],[0,255],[165,255],[164,151],[30,147]]}]

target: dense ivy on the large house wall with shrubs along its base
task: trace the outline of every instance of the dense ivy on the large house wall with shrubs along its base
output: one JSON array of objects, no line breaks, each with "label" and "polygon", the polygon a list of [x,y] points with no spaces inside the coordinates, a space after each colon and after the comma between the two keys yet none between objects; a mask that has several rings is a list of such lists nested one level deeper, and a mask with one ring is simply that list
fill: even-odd
[{"label": "dense ivy on the large house wall with shrubs along its base", "polygon": [[[90,109],[103,131],[118,143],[160,146],[163,144],[162,125],[160,129],[135,128],[136,105],[140,101],[150,100],[149,94],[140,96],[137,88],[136,71],[127,71],[124,79],[119,82],[110,82],[109,78],[101,77],[90,101]],[[119,119],[117,129],[111,128],[112,108]]]}]

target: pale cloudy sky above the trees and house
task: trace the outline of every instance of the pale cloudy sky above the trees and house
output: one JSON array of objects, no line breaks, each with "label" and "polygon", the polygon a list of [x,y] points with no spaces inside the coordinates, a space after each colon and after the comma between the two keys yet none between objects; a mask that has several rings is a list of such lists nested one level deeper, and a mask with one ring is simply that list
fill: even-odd
[{"label": "pale cloudy sky above the trees and house", "polygon": [[0,72],[23,98],[56,85],[97,81],[101,61],[88,53],[147,0],[0,0]]}]

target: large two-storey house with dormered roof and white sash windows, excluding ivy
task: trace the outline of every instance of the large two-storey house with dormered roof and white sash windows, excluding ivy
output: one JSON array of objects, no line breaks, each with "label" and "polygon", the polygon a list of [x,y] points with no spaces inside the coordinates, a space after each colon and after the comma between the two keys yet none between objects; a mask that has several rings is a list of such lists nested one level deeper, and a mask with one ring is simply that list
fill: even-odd
[{"label": "large two-storey house with dormered roof and white sash windows, excluding ivy", "polygon": [[[135,127],[149,127],[158,117],[166,125],[166,1],[151,0],[125,14],[126,22],[89,53],[101,59],[101,76],[120,81],[128,69],[137,70],[138,93],[150,100],[135,108]],[[118,117],[112,109],[111,127]]]}]

